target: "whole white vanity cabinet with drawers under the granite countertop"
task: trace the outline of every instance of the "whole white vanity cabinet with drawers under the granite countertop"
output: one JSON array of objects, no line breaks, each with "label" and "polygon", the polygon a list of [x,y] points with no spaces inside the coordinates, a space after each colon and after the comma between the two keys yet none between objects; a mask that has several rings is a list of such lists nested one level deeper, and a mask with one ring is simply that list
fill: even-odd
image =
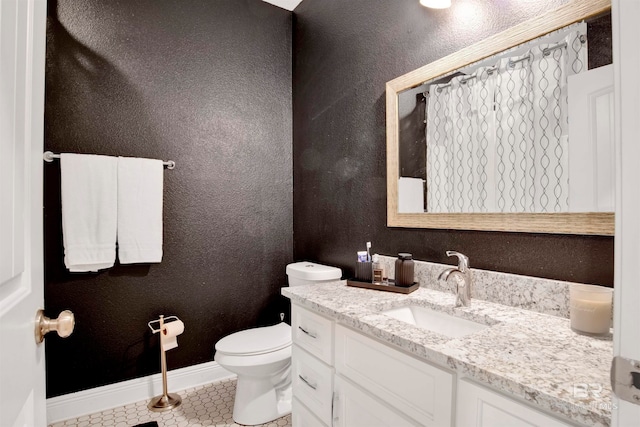
[{"label": "whole white vanity cabinet with drawers under the granite countertop", "polygon": [[571,425],[296,304],[291,314],[293,427]]}]

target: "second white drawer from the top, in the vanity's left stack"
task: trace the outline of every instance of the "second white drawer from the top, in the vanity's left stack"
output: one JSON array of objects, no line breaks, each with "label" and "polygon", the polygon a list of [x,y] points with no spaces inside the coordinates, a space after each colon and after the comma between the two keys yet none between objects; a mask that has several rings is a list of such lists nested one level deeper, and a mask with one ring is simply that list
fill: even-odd
[{"label": "second white drawer from the top, in the vanity's left stack", "polygon": [[293,396],[320,421],[331,424],[333,368],[294,344],[291,353]]}]

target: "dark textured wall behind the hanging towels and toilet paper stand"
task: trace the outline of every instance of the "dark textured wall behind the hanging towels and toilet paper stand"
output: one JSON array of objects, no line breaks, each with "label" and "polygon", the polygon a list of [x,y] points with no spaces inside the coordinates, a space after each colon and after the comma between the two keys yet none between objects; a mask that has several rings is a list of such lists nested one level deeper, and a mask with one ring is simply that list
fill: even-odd
[{"label": "dark textured wall behind the hanging towels and toilet paper stand", "polygon": [[49,1],[46,141],[54,152],[172,159],[164,258],[69,274],[60,168],[45,166],[49,397],[159,372],[147,322],[185,322],[170,369],[279,321],[292,248],[291,13],[260,0]]}]

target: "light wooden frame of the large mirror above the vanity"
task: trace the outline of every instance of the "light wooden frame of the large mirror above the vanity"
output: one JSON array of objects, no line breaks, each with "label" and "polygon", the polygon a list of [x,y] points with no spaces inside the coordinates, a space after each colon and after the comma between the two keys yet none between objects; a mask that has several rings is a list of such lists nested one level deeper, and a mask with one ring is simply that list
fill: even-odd
[{"label": "light wooden frame of the large mirror above the vanity", "polygon": [[[613,209],[572,211],[549,208],[538,211],[507,209],[487,211],[462,209],[461,211],[430,212],[425,181],[425,208],[421,211],[399,211],[400,171],[400,108],[399,97],[425,84],[446,82],[487,58],[498,57],[501,52],[512,51],[515,46],[531,42],[541,36],[557,32],[571,24],[593,19],[611,9],[610,0],[573,0],[543,15],[518,24],[499,34],[468,46],[435,62],[427,64],[386,84],[387,116],[387,226],[407,228],[437,228],[480,231],[514,231],[532,233],[560,233],[586,235],[613,235]],[[547,54],[545,52],[545,54]],[[463,79],[464,80],[464,79]],[[468,80],[468,78],[466,79]],[[463,82],[464,83],[464,82]],[[445,84],[446,85],[446,84]],[[426,107],[424,107],[426,109]],[[425,120],[426,123],[426,120]],[[577,138],[576,138],[577,139]],[[610,154],[613,161],[613,154]],[[425,169],[428,162],[424,161]],[[568,167],[567,167],[568,169]],[[574,168],[575,169],[575,168]],[[446,181],[446,177],[444,179]],[[433,182],[432,182],[433,184]],[[432,185],[429,184],[429,185]],[[611,190],[612,192],[613,190]],[[612,196],[611,196],[612,197]],[[568,196],[567,196],[568,200]],[[577,205],[576,205],[577,206]],[[574,209],[575,210],[575,209]]]}]

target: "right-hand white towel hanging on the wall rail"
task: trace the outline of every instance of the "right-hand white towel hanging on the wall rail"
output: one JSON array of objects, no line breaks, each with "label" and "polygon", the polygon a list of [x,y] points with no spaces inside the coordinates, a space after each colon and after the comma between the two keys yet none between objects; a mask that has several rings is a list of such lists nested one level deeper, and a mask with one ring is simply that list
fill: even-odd
[{"label": "right-hand white towel hanging on the wall rail", "polygon": [[118,259],[162,261],[161,160],[118,158]]}]

